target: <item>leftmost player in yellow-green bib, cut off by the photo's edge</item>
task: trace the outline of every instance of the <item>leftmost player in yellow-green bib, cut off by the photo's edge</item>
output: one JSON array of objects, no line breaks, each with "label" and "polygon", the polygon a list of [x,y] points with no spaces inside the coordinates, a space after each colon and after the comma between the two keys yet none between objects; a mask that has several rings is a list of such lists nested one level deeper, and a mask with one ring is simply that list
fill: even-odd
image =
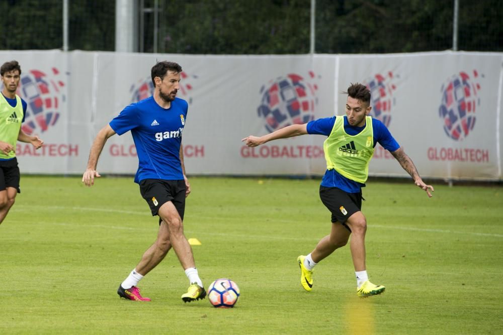
[{"label": "leftmost player in yellow-green bib, cut off by the photo's edge", "polygon": [[19,188],[20,173],[16,158],[17,141],[31,143],[36,149],[44,141],[38,136],[29,136],[21,129],[25,121],[26,101],[16,91],[21,80],[21,66],[15,60],[0,67],[2,96],[0,96],[0,224],[14,205]]}]

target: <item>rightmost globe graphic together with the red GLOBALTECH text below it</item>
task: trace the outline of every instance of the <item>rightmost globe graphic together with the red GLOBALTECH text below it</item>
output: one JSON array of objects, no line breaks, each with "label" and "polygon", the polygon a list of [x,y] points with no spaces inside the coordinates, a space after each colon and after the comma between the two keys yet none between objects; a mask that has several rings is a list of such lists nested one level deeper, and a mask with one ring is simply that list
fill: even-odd
[{"label": "rightmost globe graphic together with the red GLOBALTECH text below it", "polygon": [[[476,112],[480,108],[480,80],[484,75],[477,70],[453,74],[441,86],[439,117],[444,133],[455,142],[464,141],[475,129]],[[428,149],[431,161],[459,161],[487,163],[489,150],[485,148],[435,148]]]}]

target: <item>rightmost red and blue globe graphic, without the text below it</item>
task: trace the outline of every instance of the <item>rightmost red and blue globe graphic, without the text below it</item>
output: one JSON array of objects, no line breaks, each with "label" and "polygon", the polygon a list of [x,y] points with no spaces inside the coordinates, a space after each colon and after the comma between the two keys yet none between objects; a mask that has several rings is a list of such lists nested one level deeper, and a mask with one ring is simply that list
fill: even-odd
[{"label": "rightmost red and blue globe graphic, without the text below it", "polygon": [[480,104],[477,96],[480,84],[475,82],[477,77],[476,70],[473,71],[473,79],[466,72],[460,72],[442,85],[439,116],[445,133],[455,141],[466,138],[475,126],[475,111]]}]

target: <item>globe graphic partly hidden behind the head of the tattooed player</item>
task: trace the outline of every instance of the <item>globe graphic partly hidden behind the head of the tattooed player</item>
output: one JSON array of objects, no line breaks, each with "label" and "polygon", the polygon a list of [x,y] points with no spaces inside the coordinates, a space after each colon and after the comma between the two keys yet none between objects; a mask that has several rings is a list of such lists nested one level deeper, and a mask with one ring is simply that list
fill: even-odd
[{"label": "globe graphic partly hidden behind the head of the tattooed player", "polygon": [[386,127],[391,122],[391,107],[395,104],[393,91],[396,86],[391,82],[394,76],[390,71],[386,76],[376,74],[366,81],[366,86],[370,90],[370,105],[372,109],[370,116],[381,121]]}]

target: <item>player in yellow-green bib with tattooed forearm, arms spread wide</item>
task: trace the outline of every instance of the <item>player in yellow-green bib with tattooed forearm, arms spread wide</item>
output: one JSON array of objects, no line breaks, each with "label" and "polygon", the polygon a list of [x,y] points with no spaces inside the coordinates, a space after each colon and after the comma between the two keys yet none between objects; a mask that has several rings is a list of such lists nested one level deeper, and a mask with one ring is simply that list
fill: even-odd
[{"label": "player in yellow-green bib with tattooed forearm, arms spread wide", "polygon": [[266,142],[305,134],[327,136],[323,143],[327,170],[321,181],[319,194],[323,204],[331,212],[330,234],[322,238],[307,256],[299,256],[300,282],[305,290],[311,291],[314,266],[322,259],[351,242],[351,256],[355,267],[357,294],[360,297],[381,294],[385,287],[369,281],[365,266],[365,233],[367,220],[362,208],[362,187],[368,177],[368,166],[374,147],[381,144],[398,160],[402,168],[414,180],[415,185],[433,191],[421,179],[412,160],[405,154],[390,132],[380,121],[369,117],[370,91],[362,84],[351,84],[347,92],[346,116],[311,121],[303,125],[291,125],[271,134],[248,136],[242,141],[248,147]]}]

